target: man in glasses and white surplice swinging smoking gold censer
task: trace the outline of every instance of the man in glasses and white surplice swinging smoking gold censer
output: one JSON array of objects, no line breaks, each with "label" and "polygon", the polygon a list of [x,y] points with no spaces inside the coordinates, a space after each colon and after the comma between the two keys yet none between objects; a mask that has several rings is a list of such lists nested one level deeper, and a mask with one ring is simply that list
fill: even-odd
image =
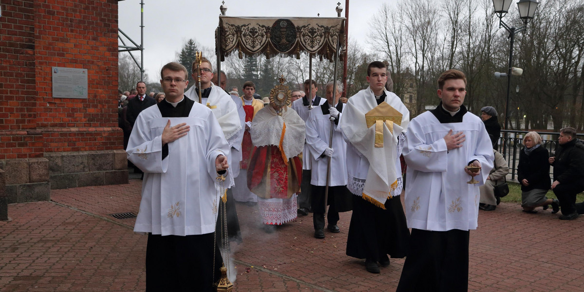
[{"label": "man in glasses and white surplice swinging smoking gold censer", "polygon": [[168,283],[179,291],[213,291],[222,262],[214,252],[223,195],[216,178],[229,176],[230,147],[211,110],[183,94],[186,68],[171,62],[161,78],[166,98],[140,113],[127,148],[144,171],[134,231],[148,232],[146,291],[168,290]]}]

